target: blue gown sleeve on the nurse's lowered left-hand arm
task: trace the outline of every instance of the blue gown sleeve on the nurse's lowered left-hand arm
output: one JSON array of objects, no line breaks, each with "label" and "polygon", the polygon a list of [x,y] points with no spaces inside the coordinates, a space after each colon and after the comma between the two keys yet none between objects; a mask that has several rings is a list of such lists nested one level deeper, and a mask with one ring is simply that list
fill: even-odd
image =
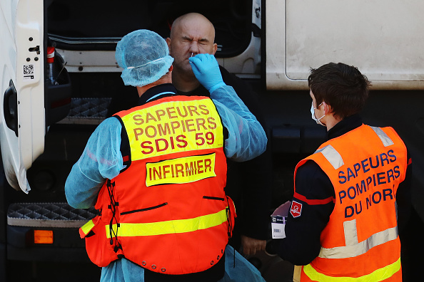
[{"label": "blue gown sleeve on the nurse's lowered left-hand arm", "polygon": [[121,122],[109,117],[101,122],[66,179],[66,200],[71,207],[87,209],[94,205],[105,179],[116,177],[123,169]]}]

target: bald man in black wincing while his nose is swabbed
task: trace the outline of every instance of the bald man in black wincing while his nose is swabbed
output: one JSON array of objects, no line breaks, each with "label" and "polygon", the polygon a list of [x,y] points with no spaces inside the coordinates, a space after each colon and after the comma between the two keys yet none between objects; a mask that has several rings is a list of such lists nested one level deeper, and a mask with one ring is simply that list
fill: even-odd
[{"label": "bald man in black wincing while his nose is swabbed", "polygon": [[[209,96],[193,74],[188,58],[199,53],[215,55],[215,28],[205,16],[190,13],[173,22],[171,34],[166,38],[169,53],[174,58],[172,82],[180,95]],[[223,81],[233,86],[243,103],[266,128],[259,101],[251,86],[220,66]],[[246,177],[249,175],[249,177]],[[238,218],[230,244],[243,253],[256,254],[266,247],[268,239],[269,208],[271,206],[271,155],[264,153],[244,163],[228,161],[226,193],[236,204]]]}]

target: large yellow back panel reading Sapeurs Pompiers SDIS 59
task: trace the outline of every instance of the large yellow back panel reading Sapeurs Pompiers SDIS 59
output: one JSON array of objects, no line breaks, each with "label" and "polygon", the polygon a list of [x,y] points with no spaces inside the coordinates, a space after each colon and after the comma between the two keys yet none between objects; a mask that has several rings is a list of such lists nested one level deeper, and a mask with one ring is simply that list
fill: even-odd
[{"label": "large yellow back panel reading Sapeurs Pompiers SDIS 59", "polygon": [[169,101],[122,117],[131,160],[223,147],[221,117],[211,99]]}]

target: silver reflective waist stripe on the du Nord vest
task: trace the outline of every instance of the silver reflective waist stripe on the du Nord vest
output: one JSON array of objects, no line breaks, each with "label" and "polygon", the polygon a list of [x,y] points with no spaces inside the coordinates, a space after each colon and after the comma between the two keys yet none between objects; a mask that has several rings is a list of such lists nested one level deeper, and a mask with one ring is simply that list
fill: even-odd
[{"label": "silver reflective waist stripe on the du Nord vest", "polygon": [[345,230],[346,246],[331,249],[321,247],[318,255],[320,258],[353,258],[365,254],[375,246],[398,238],[398,228],[393,227],[373,234],[362,242],[358,242],[356,219],[343,222],[343,229]]}]

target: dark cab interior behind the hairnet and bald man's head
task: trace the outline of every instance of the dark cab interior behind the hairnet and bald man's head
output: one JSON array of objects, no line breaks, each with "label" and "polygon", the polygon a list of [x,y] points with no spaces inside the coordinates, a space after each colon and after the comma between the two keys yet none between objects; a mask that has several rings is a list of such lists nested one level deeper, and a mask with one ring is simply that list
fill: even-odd
[{"label": "dark cab interior behind the hairnet and bald man's head", "polygon": [[[243,0],[54,0],[46,5],[49,37],[65,50],[114,50],[116,40],[145,28],[166,38],[174,19],[188,12],[206,16],[216,28],[216,56],[242,53],[251,39],[252,2]],[[109,41],[108,41],[109,40]],[[85,43],[84,43],[85,42]],[[108,43],[109,42],[109,43]]]}]

